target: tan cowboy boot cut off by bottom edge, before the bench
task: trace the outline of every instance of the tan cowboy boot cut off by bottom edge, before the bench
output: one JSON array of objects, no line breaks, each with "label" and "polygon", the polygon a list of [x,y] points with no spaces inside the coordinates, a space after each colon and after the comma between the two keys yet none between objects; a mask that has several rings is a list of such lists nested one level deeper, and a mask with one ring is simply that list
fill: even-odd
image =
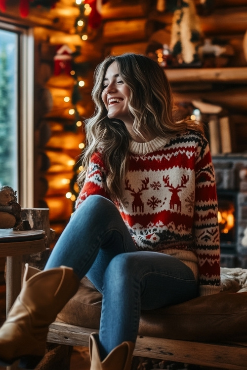
[{"label": "tan cowboy boot cut off by bottom edge, before the bench", "polygon": [[130,370],[134,348],[135,344],[133,342],[123,342],[115,347],[101,362],[98,334],[92,333],[89,338],[90,370]]}]

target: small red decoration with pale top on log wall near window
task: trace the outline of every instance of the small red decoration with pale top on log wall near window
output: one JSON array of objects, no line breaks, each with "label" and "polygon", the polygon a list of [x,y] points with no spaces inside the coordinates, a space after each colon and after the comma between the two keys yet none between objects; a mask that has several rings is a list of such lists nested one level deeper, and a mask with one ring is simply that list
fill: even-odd
[{"label": "small red decoration with pale top on log wall near window", "polygon": [[62,45],[54,56],[54,75],[61,73],[69,74],[71,72],[72,50],[68,45]]}]

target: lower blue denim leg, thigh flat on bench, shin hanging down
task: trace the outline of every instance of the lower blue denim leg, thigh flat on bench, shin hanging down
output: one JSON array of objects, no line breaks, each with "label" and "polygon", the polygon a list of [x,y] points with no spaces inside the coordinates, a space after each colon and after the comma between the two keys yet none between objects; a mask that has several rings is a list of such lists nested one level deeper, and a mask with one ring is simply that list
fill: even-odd
[{"label": "lower blue denim leg, thigh flat on bench, shin hanging down", "polygon": [[179,259],[141,251],[116,256],[104,275],[99,337],[102,359],[123,341],[135,342],[141,309],[181,303],[197,293],[193,272]]}]

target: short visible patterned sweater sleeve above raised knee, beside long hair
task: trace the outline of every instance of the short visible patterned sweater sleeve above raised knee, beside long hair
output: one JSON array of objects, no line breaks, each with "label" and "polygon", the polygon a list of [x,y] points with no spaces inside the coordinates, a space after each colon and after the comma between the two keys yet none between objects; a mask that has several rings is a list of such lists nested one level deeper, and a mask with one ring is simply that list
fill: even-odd
[{"label": "short visible patterned sweater sleeve above raised knee, beside long hair", "polygon": [[85,181],[76,201],[76,208],[78,208],[89,195],[95,194],[110,199],[106,190],[106,170],[99,153],[93,153],[90,159]]}]

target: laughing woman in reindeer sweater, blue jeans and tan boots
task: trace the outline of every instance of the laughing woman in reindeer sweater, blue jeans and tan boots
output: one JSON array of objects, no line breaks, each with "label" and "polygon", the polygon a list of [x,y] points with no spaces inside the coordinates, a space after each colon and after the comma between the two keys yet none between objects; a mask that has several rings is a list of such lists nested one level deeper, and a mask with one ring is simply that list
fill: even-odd
[{"label": "laughing woman in reindeer sweater, blue jeans and tan boots", "polygon": [[142,55],[106,58],[92,97],[76,211],[44,271],[26,269],[0,330],[4,363],[37,364],[48,325],[85,275],[103,294],[91,370],[130,368],[141,309],[219,292],[217,200],[203,128],[174,121],[165,73]]}]

